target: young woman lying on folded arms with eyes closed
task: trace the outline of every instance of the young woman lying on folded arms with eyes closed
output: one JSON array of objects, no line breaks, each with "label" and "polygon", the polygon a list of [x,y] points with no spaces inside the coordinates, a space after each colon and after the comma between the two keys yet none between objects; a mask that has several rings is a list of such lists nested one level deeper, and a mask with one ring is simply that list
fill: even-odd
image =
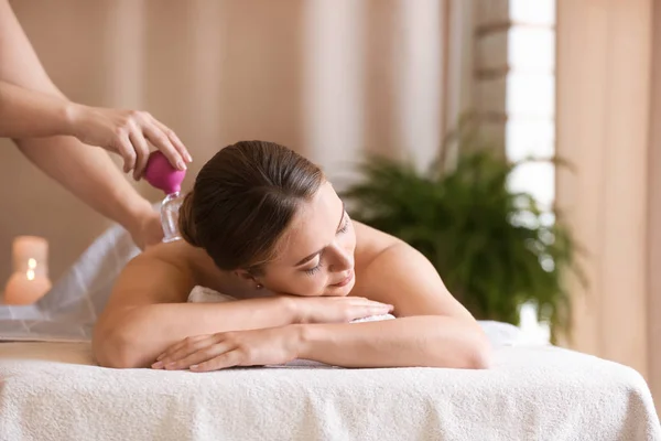
[{"label": "young woman lying on folded arms with eyes closed", "polygon": [[[107,367],[206,372],[304,358],[345,367],[485,368],[481,327],[403,241],[351,222],[322,171],[238,142],[197,175],[185,240],[120,275],[95,329]],[[186,302],[195,286],[239,300]],[[394,320],[349,323],[391,313]]]}]

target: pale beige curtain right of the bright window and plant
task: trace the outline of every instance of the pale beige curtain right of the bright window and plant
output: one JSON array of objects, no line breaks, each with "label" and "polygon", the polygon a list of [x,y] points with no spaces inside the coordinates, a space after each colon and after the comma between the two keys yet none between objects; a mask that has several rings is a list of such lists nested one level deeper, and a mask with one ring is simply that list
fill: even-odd
[{"label": "pale beige curtain right of the bright window and plant", "polygon": [[557,152],[576,172],[559,173],[556,198],[587,251],[589,287],[574,286],[571,346],[636,368],[659,406],[661,40],[653,9],[659,20],[658,0],[559,1]]}]

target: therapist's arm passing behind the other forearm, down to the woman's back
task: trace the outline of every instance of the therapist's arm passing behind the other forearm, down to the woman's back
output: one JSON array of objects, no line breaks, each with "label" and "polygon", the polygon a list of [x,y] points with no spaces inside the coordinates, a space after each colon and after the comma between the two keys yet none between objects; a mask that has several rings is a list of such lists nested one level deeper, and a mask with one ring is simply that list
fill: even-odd
[{"label": "therapist's arm passing behind the other forearm, down to the woman's back", "polygon": [[[41,65],[7,0],[0,0],[0,79],[65,99]],[[127,228],[138,245],[162,238],[158,213],[100,148],[74,137],[24,138],[15,142],[44,173]]]}]

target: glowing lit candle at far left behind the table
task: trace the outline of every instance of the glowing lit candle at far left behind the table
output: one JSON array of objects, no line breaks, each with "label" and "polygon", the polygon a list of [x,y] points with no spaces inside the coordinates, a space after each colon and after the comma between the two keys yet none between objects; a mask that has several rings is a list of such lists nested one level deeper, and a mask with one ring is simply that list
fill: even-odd
[{"label": "glowing lit candle at far left behind the table", "polygon": [[13,273],[4,288],[4,303],[30,304],[51,290],[48,243],[43,237],[19,236],[12,245]]}]

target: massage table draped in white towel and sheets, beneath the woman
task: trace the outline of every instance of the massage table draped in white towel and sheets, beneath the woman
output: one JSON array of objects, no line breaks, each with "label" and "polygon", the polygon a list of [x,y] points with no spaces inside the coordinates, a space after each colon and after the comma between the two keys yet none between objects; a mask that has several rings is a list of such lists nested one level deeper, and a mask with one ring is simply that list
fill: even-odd
[{"label": "massage table draped in white towel and sheets, beneath the woman", "polygon": [[90,331],[137,252],[111,228],[36,304],[0,308],[0,440],[661,440],[635,369],[498,322],[486,370],[100,367]]}]

